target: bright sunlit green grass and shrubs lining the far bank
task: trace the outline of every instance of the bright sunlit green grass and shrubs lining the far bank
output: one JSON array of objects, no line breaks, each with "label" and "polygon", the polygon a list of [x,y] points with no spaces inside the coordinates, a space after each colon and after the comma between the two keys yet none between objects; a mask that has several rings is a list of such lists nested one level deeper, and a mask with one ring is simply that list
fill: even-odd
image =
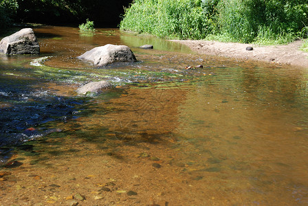
[{"label": "bright sunlit green grass and shrubs lining the far bank", "polygon": [[305,25],[308,0],[135,0],[120,28],[168,38],[269,44],[303,36]]}]

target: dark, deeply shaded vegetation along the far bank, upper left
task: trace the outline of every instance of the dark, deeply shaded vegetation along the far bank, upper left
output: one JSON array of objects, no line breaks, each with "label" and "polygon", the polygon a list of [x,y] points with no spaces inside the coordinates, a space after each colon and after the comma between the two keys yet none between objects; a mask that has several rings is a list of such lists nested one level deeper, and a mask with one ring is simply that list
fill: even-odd
[{"label": "dark, deeply shaded vegetation along the far bank, upper left", "polygon": [[115,27],[124,6],[132,0],[0,0],[0,27],[17,23],[78,25],[91,19],[96,25]]}]

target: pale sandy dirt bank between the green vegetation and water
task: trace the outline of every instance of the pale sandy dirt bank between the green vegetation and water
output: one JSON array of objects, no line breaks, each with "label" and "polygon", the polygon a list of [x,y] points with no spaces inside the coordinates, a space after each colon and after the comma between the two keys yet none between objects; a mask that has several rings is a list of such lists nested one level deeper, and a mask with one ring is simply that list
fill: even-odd
[{"label": "pale sandy dirt bank between the green vegetation and water", "polygon": [[[294,41],[288,45],[258,46],[241,43],[220,43],[217,41],[191,41],[173,40],[174,42],[188,45],[192,51],[199,54],[239,58],[244,60],[260,60],[275,62],[282,65],[294,65],[308,68],[308,54],[299,47],[303,41]],[[253,47],[252,51],[246,47]]]}]

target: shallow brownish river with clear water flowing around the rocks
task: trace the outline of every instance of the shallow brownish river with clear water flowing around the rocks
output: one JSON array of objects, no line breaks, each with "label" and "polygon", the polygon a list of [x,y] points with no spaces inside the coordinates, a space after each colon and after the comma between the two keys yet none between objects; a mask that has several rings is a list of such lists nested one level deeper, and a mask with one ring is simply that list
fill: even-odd
[{"label": "shallow brownish river with clear water flowing around the rocks", "polygon": [[[0,205],[308,205],[307,69],[119,30],[34,33],[40,56],[0,56]],[[138,62],[76,58],[107,43]],[[114,87],[76,94],[98,80]]]}]

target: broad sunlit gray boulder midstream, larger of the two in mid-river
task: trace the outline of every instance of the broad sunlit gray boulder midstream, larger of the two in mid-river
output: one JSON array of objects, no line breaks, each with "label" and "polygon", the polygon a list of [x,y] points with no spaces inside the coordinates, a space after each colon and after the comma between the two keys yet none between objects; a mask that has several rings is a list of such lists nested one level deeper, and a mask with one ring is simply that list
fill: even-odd
[{"label": "broad sunlit gray boulder midstream, larger of the two in mid-river", "polygon": [[95,47],[85,54],[78,56],[81,60],[93,62],[94,65],[104,67],[113,62],[136,62],[135,55],[129,47],[124,45],[104,45]]}]

